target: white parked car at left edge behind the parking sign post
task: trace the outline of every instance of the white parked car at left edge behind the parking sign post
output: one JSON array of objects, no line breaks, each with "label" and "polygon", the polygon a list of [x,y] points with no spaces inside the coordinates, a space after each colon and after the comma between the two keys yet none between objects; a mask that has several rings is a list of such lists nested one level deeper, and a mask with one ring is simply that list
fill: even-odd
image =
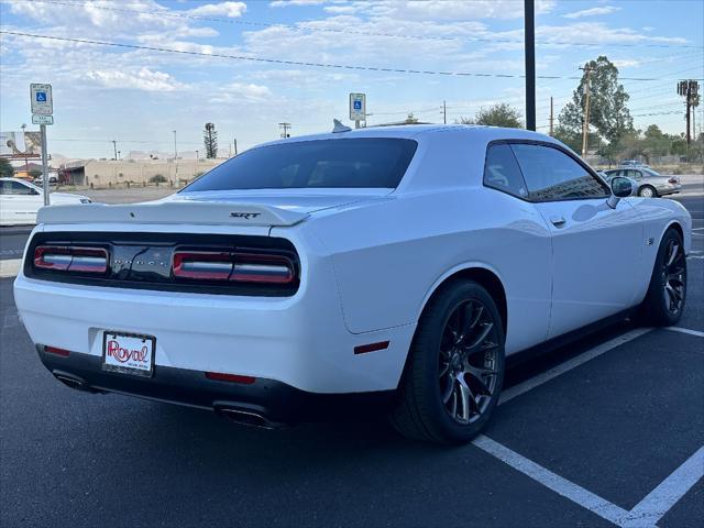
[{"label": "white parked car at left edge behind the parking sign post", "polygon": [[[44,207],[41,187],[18,178],[0,178],[0,226],[36,223],[36,213]],[[50,205],[90,204],[90,198],[67,193],[51,193]]]}]

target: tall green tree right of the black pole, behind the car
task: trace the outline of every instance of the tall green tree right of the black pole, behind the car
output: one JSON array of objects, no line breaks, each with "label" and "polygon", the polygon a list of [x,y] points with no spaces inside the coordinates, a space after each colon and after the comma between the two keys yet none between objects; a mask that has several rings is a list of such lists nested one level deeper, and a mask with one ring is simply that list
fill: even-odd
[{"label": "tall green tree right of the black pole, behind the car", "polygon": [[[618,82],[618,68],[605,56],[590,61],[584,67],[591,70],[590,125],[615,147],[632,131],[634,120],[626,106],[629,96]],[[572,94],[572,101],[564,106],[558,118],[560,128],[571,135],[582,132],[585,94],[586,72]]]}]

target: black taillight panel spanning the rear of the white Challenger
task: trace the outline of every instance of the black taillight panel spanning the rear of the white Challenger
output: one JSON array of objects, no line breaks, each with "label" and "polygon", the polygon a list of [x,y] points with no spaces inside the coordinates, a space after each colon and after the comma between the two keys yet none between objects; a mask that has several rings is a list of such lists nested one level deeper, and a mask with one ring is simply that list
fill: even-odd
[{"label": "black taillight panel spanning the rear of the white Challenger", "polygon": [[285,239],[190,233],[37,233],[28,277],[121,288],[292,296],[300,262]]}]

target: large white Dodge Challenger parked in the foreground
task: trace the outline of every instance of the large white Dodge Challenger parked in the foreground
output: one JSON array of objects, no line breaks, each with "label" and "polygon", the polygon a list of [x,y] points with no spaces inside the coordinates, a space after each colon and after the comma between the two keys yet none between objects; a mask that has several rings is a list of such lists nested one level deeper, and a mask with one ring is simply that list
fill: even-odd
[{"label": "large white Dodge Challenger parked in the foreground", "polygon": [[14,296],[75,388],[264,427],[384,397],[404,435],[464,442],[507,356],[679,320],[691,217],[636,188],[535,132],[338,127],[157,202],[42,209]]}]

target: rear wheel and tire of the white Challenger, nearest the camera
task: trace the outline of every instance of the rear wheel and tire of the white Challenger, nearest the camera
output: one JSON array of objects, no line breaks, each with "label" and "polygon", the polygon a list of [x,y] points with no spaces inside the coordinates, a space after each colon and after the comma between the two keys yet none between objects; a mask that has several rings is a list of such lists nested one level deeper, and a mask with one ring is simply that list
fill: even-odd
[{"label": "rear wheel and tire of the white Challenger, nearest the camera", "polygon": [[[457,331],[460,328],[462,332]],[[392,408],[392,425],[416,440],[472,440],[498,403],[504,343],[504,326],[486,289],[472,280],[443,287],[416,329]]]}]

